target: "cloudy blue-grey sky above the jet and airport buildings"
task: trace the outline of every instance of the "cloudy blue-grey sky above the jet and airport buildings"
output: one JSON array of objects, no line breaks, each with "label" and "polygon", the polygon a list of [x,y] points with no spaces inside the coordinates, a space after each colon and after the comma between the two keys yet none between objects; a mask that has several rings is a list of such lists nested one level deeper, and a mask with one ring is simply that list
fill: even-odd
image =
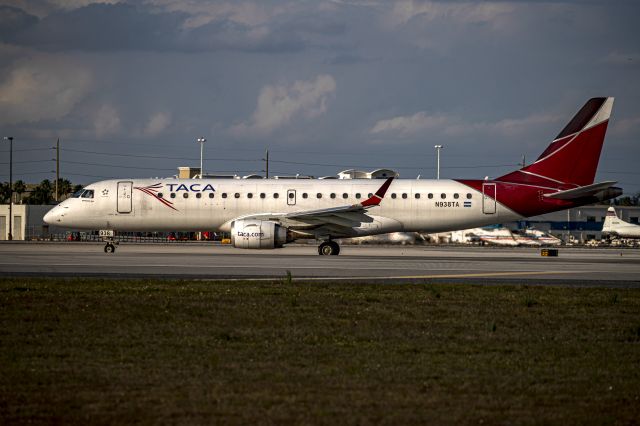
[{"label": "cloudy blue-grey sky above the jet and airport buildings", "polygon": [[[616,97],[598,180],[640,192],[638,1],[0,0],[14,180],[498,177]],[[8,180],[8,144],[0,181]]]}]

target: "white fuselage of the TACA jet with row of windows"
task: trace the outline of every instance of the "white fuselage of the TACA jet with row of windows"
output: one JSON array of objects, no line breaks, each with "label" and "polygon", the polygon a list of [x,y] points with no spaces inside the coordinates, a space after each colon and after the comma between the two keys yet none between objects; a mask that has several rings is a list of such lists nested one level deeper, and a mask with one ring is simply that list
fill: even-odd
[{"label": "white fuselage of the TACA jet with row of windows", "polygon": [[[131,179],[87,186],[93,198],[70,198],[45,220],[75,229],[116,231],[228,231],[244,216],[291,213],[357,204],[381,180]],[[151,189],[150,189],[151,188]],[[371,223],[353,235],[441,232],[520,219],[495,199],[454,180],[396,179]]]}]

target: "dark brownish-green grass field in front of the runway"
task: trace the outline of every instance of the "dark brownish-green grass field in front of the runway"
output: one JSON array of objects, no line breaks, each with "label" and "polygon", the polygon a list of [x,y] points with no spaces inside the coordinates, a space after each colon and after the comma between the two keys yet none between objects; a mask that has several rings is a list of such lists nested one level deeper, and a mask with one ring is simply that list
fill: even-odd
[{"label": "dark brownish-green grass field in front of the runway", "polygon": [[0,423],[629,424],[640,290],[0,279]]}]

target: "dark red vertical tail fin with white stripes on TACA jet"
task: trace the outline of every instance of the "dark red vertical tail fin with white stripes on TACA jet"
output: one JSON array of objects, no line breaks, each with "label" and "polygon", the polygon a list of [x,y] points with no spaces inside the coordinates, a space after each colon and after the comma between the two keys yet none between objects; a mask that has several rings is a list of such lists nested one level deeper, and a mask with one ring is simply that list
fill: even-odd
[{"label": "dark red vertical tail fin with white stripes on TACA jet", "polygon": [[538,159],[498,181],[569,189],[593,183],[613,98],[593,98]]}]

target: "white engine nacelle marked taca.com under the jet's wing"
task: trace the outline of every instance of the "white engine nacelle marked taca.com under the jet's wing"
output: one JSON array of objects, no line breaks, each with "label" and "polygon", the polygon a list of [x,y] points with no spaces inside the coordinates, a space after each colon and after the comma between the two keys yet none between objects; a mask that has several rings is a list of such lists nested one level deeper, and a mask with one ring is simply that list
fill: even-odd
[{"label": "white engine nacelle marked taca.com under the jet's wing", "polygon": [[287,229],[268,220],[236,220],[231,224],[231,244],[236,248],[274,249],[287,241]]}]

